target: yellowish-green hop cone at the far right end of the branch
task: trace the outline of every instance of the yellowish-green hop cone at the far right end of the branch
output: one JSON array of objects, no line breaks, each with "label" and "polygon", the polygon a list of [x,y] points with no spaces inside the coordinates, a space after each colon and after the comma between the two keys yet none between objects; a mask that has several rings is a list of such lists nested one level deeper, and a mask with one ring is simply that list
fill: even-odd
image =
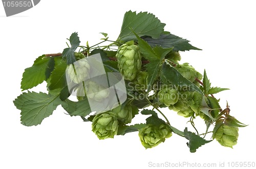
[{"label": "yellowish-green hop cone at the far right end of the branch", "polygon": [[238,135],[238,127],[221,124],[212,137],[222,146],[233,148],[237,144]]}]

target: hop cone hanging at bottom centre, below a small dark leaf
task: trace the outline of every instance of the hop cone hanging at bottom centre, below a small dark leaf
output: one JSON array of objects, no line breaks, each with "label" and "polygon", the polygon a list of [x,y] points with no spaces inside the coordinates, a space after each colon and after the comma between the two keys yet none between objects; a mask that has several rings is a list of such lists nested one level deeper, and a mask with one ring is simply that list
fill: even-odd
[{"label": "hop cone hanging at bottom centre, below a small dark leaf", "polygon": [[156,147],[165,141],[165,138],[172,136],[172,132],[165,124],[159,127],[152,124],[147,124],[145,127],[139,129],[139,137],[141,144],[146,148]]}]

